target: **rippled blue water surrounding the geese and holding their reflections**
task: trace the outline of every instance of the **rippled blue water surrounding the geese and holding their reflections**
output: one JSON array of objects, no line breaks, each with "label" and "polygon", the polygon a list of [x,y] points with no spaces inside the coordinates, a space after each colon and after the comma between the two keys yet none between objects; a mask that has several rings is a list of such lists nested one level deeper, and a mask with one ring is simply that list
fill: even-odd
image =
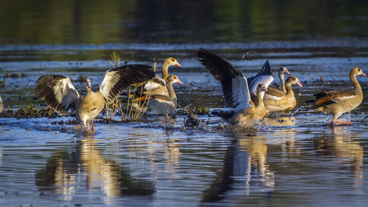
[{"label": "rippled blue water surrounding the geese and holding their reflections", "polygon": [[[45,74],[99,83],[112,51],[127,63],[178,59],[183,68],[170,72],[184,83],[174,86],[179,108],[225,105],[194,57],[199,47],[247,77],[266,59],[273,71],[285,66],[304,86],[294,87],[298,107],[315,92],[349,88],[352,67],[368,73],[365,1],[170,2],[3,2],[6,106],[43,103],[32,87]],[[367,79],[358,81],[365,93]],[[97,123],[88,137],[51,124],[72,117],[0,118],[0,206],[367,206],[367,103],[343,117],[354,126],[332,129],[331,117],[304,108],[249,130],[208,116],[185,128],[178,115],[173,124]]]}]

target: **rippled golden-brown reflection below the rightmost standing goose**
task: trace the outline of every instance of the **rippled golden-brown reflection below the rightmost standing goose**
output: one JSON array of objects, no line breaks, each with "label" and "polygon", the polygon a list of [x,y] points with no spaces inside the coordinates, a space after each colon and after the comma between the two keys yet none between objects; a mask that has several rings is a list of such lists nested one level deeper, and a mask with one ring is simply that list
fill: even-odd
[{"label": "rippled golden-brown reflection below the rightmost standing goose", "polygon": [[332,155],[337,158],[339,167],[348,166],[354,179],[354,188],[362,194],[364,150],[357,139],[360,135],[352,135],[350,128],[344,126],[331,128],[331,135],[314,139],[318,155]]}]

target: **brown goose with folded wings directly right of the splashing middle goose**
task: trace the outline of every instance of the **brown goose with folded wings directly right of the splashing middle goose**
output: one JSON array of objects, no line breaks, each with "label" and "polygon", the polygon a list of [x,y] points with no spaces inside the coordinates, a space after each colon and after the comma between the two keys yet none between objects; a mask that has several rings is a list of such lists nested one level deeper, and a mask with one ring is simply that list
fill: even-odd
[{"label": "brown goose with folded wings directly right of the splashing middle goose", "polygon": [[292,110],[296,106],[296,99],[292,89],[292,84],[302,87],[302,84],[298,78],[291,76],[286,79],[285,88],[286,92],[278,90],[276,88],[269,87],[263,97],[263,103],[267,108],[267,112],[280,111],[280,110]]}]

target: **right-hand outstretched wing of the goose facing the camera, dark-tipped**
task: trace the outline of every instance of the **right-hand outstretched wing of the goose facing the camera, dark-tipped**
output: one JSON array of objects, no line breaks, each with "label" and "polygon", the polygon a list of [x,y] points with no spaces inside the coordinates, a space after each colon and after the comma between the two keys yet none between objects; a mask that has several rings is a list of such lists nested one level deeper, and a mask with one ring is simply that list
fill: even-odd
[{"label": "right-hand outstretched wing of the goose facing the camera, dark-tipped", "polygon": [[100,83],[100,92],[107,103],[112,103],[114,98],[127,86],[149,81],[153,77],[155,74],[151,66],[125,65],[113,68],[105,72]]}]

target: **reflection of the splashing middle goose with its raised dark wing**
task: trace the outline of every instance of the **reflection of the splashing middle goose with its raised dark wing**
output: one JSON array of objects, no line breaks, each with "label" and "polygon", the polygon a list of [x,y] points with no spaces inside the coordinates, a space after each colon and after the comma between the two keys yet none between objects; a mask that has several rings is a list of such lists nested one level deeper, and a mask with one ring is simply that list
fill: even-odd
[{"label": "reflection of the splashing middle goose with its raised dark wing", "polygon": [[203,191],[201,202],[225,199],[231,190],[240,189],[245,195],[256,191],[270,198],[274,184],[274,172],[267,165],[265,137],[238,137],[234,139],[234,145],[227,148],[223,167],[209,188]]}]

